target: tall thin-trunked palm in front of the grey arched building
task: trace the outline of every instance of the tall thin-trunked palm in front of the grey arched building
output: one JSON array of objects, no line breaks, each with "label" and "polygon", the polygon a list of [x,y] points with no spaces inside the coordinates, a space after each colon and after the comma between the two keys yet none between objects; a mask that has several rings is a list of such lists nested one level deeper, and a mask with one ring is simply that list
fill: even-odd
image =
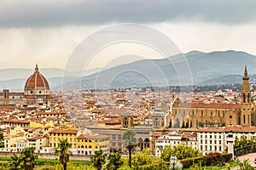
[{"label": "tall thin-trunked palm in front of the grey arched building", "polygon": [[136,133],[133,130],[126,130],[123,133],[123,144],[128,148],[129,151],[129,166],[131,167],[131,150],[137,144],[135,138]]}]

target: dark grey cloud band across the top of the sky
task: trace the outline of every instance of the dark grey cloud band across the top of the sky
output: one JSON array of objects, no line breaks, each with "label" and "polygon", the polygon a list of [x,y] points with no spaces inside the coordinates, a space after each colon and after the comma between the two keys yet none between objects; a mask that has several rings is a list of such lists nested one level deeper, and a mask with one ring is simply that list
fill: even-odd
[{"label": "dark grey cloud band across the top of the sky", "polygon": [[154,23],[198,20],[224,24],[256,21],[253,0],[0,0],[1,27]]}]

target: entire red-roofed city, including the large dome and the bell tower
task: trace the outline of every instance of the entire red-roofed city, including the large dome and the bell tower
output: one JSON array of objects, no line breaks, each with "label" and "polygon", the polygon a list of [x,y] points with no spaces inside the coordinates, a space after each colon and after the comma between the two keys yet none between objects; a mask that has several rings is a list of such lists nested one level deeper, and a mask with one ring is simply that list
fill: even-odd
[{"label": "entire red-roofed city, including the large dome and the bell tower", "polygon": [[59,141],[67,139],[75,155],[125,152],[123,133],[132,129],[137,139],[134,150],[148,148],[155,156],[176,144],[191,145],[203,154],[223,152],[230,134],[256,136],[247,68],[242,80],[241,92],[185,94],[131,88],[53,93],[36,65],[23,93],[4,89],[0,94],[0,151],[34,146],[38,153],[53,154]]}]

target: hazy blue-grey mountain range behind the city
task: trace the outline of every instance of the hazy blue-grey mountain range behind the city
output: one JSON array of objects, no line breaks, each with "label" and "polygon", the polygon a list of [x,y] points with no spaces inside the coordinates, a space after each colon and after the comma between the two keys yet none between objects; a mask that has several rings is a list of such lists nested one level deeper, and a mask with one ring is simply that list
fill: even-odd
[{"label": "hazy blue-grey mountain range behind the city", "polygon": [[[55,68],[40,71],[47,77],[52,89],[105,89],[241,83],[245,65],[251,76],[250,82],[256,82],[256,75],[253,75],[256,73],[256,56],[233,50],[211,53],[192,51],[167,59],[143,59],[100,72],[97,72],[99,69],[85,71],[84,77],[75,77],[82,71],[65,72]],[[0,88],[22,90],[32,72],[29,69],[2,69]]]}]

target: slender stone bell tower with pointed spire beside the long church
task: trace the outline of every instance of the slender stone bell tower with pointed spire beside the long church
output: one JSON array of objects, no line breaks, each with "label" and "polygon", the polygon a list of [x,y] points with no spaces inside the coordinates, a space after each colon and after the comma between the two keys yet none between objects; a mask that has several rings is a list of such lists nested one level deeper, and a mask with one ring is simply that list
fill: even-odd
[{"label": "slender stone bell tower with pointed spire beside the long church", "polygon": [[245,66],[241,85],[241,125],[251,125],[251,102],[249,77],[247,75],[247,66]]}]

